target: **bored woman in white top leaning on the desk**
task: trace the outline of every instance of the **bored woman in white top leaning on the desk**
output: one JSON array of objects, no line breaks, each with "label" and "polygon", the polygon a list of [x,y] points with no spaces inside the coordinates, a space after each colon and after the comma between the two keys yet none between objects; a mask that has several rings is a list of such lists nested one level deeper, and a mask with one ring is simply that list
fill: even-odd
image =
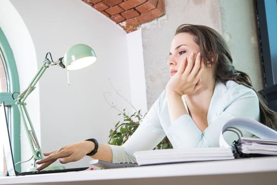
[{"label": "bored woman in white top leaning on the desk", "polygon": [[[235,70],[227,44],[215,30],[181,25],[172,40],[168,60],[170,80],[135,133],[122,146],[90,139],[45,153],[42,170],[60,159],[77,161],[89,155],[112,162],[134,162],[133,153],[151,150],[165,136],[174,148],[216,147],[222,126],[248,117],[276,128],[276,115],[253,90],[246,73]],[[244,136],[251,136],[244,132]],[[235,140],[233,133],[225,138]],[[91,142],[92,141],[92,142]],[[98,147],[97,147],[98,145]]]}]

